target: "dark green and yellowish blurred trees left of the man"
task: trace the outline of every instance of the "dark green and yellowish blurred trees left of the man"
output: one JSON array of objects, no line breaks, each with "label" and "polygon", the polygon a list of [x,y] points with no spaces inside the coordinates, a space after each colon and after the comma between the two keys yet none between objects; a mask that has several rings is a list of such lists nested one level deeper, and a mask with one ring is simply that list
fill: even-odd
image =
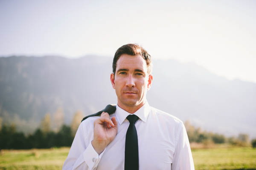
[{"label": "dark green and yellowish blurred trees left of the man", "polygon": [[58,109],[53,114],[53,123],[50,113],[47,113],[40,126],[27,135],[19,132],[15,124],[2,124],[0,119],[0,150],[70,147],[83,117],[82,112],[77,111],[70,126],[65,125],[63,111]]}]

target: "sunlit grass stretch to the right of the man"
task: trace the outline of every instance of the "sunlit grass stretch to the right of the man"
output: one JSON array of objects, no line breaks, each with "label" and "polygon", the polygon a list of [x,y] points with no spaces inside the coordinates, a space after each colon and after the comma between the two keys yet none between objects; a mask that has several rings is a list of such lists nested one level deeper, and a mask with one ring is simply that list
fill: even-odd
[{"label": "sunlit grass stretch to the right of the man", "polygon": [[196,170],[256,170],[251,147],[192,150]]}]

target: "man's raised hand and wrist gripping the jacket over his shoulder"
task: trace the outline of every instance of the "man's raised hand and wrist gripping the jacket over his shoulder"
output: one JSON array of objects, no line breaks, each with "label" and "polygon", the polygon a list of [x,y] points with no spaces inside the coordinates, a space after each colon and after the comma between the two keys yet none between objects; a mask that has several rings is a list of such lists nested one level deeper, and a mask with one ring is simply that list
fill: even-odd
[{"label": "man's raised hand and wrist gripping the jacket over his shoulder", "polygon": [[110,119],[110,116],[106,112],[102,112],[100,118],[94,121],[94,136],[92,145],[94,150],[100,154],[105,150],[111,141],[114,140],[117,133],[117,121],[113,117]]}]

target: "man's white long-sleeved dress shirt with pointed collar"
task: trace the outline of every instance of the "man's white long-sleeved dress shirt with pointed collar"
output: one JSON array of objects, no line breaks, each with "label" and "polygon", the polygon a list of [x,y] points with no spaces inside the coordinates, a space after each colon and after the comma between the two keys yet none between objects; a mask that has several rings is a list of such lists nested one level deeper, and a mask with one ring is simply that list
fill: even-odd
[{"label": "man's white long-sleeved dress shirt with pointed collar", "polygon": [[[138,135],[140,170],[194,170],[189,139],[180,119],[144,104],[134,113]],[[93,140],[93,122],[98,116],[87,118],[80,124],[63,170],[124,170],[125,136],[129,127],[129,112],[116,105],[117,134],[105,150],[98,155]]]}]

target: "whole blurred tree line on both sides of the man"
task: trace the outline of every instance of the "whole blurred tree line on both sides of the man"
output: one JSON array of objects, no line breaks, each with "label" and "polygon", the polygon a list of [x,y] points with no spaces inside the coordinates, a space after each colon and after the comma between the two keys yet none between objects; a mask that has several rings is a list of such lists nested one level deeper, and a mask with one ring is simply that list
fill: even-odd
[{"label": "whole blurred tree line on both sides of the man", "polygon": [[[9,126],[3,124],[0,126],[0,149],[70,147],[82,117],[81,112],[76,112],[70,126],[61,125],[60,127],[53,126],[54,128],[52,128],[50,115],[46,114],[41,121],[40,127],[29,135],[18,132],[15,124]],[[249,141],[247,134],[239,134],[237,137],[225,137],[218,133],[206,132],[200,128],[195,128],[189,121],[185,122],[185,126],[190,143],[228,143],[236,146],[256,147],[256,139]]]}]

